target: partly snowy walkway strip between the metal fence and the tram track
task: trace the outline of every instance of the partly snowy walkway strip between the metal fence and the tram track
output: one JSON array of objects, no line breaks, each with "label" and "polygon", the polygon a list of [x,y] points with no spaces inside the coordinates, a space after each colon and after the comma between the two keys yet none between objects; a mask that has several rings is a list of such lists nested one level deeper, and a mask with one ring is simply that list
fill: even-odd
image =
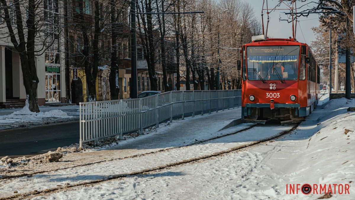
[{"label": "partly snowy walkway strip between the metal fence and the tram track", "polygon": [[[110,148],[91,149],[89,151],[67,153],[61,162],[40,163],[38,160],[29,160],[26,165],[12,168],[12,172],[1,170],[0,175],[14,175],[26,172],[60,169],[87,163],[105,160],[120,159],[152,151],[159,151],[169,147],[186,146],[190,143],[206,140],[220,134],[218,132],[230,122],[239,119],[241,109],[230,109],[205,114],[203,116],[186,117],[184,120],[174,120],[173,123],[163,123],[159,128],[148,131],[149,134],[141,135],[127,140],[119,141]],[[241,124],[225,131],[236,131],[249,127],[250,124]],[[79,133],[78,133],[79,134]],[[15,169],[15,170],[14,170]]]}]

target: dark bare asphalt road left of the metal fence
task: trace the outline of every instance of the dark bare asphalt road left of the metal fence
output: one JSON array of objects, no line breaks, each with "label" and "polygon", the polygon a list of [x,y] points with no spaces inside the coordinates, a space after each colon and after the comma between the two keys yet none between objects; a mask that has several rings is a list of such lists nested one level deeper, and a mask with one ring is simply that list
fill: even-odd
[{"label": "dark bare asphalt road left of the metal fence", "polygon": [[0,158],[42,154],[79,142],[79,121],[0,131]]}]

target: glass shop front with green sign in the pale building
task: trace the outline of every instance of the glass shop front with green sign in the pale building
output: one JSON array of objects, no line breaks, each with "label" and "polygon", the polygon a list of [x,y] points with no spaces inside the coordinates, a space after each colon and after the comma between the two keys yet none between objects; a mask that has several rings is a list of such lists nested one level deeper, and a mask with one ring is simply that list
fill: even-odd
[{"label": "glass shop front with green sign in the pale building", "polygon": [[54,103],[61,102],[60,98],[60,67],[45,67],[45,102]]}]

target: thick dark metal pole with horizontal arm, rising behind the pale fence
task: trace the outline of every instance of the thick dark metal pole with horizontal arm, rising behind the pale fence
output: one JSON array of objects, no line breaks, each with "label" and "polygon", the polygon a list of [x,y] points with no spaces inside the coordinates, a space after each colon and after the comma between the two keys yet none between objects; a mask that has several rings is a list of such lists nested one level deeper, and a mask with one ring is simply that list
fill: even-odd
[{"label": "thick dark metal pole with horizontal arm, rising behind the pale fence", "polygon": [[137,55],[136,55],[136,1],[131,0],[131,82],[130,96],[137,98]]}]

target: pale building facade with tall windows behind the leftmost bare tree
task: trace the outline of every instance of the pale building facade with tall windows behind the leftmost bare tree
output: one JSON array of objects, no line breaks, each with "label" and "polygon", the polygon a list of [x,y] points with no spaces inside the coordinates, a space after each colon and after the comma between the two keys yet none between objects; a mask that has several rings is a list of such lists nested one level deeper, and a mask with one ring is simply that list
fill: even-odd
[{"label": "pale building facade with tall windows behind the leftmost bare tree", "polygon": [[[23,6],[23,5],[21,5]],[[59,35],[58,18],[48,17],[59,16],[58,1],[45,0],[44,11],[39,14],[44,15],[45,20],[41,26],[44,31],[40,31],[36,37],[35,49],[43,54],[35,56],[35,66],[39,79],[37,88],[38,105],[60,103],[65,101],[65,66],[63,61],[64,45],[63,38]],[[11,2],[9,2],[9,12],[13,12]],[[25,12],[24,12],[25,13]],[[23,18],[26,15],[23,13]],[[12,27],[17,31],[16,20],[10,15]],[[23,107],[26,100],[26,91],[23,84],[23,74],[21,68],[20,55],[13,47],[9,38],[9,31],[6,27],[5,20],[0,21],[0,32],[2,36],[0,40],[0,107]],[[7,36],[7,37],[6,37]],[[46,38],[46,40],[42,40]],[[37,45],[38,44],[38,45]],[[40,51],[44,49],[44,51]],[[21,104],[21,103],[22,104]]]}]

